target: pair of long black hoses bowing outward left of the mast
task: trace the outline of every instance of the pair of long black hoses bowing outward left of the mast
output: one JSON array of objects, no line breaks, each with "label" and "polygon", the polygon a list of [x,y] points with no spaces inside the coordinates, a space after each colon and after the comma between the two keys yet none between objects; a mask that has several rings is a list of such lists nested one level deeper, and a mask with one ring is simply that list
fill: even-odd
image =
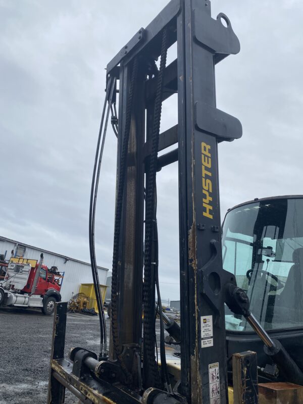
[{"label": "pair of long black hoses bowing outward left of the mast", "polygon": [[[99,358],[103,358],[103,357],[107,356],[107,348],[106,348],[107,332],[106,332],[106,320],[105,320],[105,315],[104,315],[102,296],[101,296],[100,287],[99,287],[98,270],[97,270],[96,258],[95,258],[94,224],[95,224],[95,208],[96,208],[100,167],[101,167],[101,163],[102,163],[106,130],[107,130],[107,124],[108,124],[108,119],[109,119],[109,112],[110,112],[110,106],[111,106],[111,102],[112,102],[114,87],[115,87],[115,79],[110,77],[108,86],[107,86],[106,99],[105,99],[105,103],[104,103],[104,107],[103,107],[102,118],[101,118],[101,122],[100,122],[99,134],[98,134],[98,141],[97,141],[92,182],[91,182],[90,205],[89,205],[89,252],[90,252],[90,262],[91,262],[94,291],[95,291],[95,295],[96,295],[96,302],[97,302],[97,308],[98,308],[98,312],[99,312],[99,323],[100,323]],[[104,131],[103,131],[107,102],[109,103],[109,106],[108,106],[108,110],[107,110],[107,114],[106,114],[106,122],[105,122]],[[103,133],[103,136],[102,136],[102,133]],[[101,148],[100,148],[101,138],[102,138],[102,144],[101,144]]]}]

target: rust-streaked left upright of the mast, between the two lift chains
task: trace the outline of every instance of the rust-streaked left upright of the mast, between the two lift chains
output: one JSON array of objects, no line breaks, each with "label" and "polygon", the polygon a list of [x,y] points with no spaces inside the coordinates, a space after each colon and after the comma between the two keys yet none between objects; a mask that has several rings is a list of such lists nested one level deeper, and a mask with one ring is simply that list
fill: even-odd
[{"label": "rust-streaked left upright of the mast, between the two lift chains", "polygon": [[[120,67],[121,82],[120,97],[127,96],[127,83],[129,83],[128,68]],[[139,68],[137,83],[144,79],[144,73]],[[118,337],[120,361],[127,369],[127,374],[134,388],[140,386],[138,375],[137,353],[141,350],[141,318],[142,318],[142,272],[143,272],[143,204],[144,204],[144,168],[142,148],[144,138],[144,86],[136,85],[134,88],[134,111],[132,114],[126,167],[125,198],[123,202],[123,214],[121,221],[121,241],[119,249],[119,262],[121,265],[118,273],[120,291],[118,295]],[[125,124],[123,109],[120,110],[121,130]],[[121,134],[118,136],[118,147],[121,147]],[[118,159],[118,167],[119,167]],[[118,175],[118,174],[117,174]],[[132,296],[132,297],[130,297]],[[134,348],[129,349],[129,344]],[[125,355],[124,355],[125,354]],[[111,357],[114,359],[114,356]]]}]

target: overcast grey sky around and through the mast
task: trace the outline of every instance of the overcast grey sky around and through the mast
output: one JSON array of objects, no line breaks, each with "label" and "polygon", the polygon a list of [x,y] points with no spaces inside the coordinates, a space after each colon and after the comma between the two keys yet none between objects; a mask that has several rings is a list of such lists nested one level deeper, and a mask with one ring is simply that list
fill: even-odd
[{"label": "overcast grey sky around and through the mast", "polygon": [[[1,235],[89,261],[105,67],[167,3],[0,0]],[[240,140],[219,145],[223,219],[245,200],[303,193],[303,2],[213,0],[212,12],[229,17],[241,43],[216,70],[217,106],[243,126]],[[161,130],[175,123],[172,99]],[[115,176],[110,129],[96,214],[97,263],[108,268]],[[163,300],[179,298],[177,187],[175,163],[158,176]]]}]

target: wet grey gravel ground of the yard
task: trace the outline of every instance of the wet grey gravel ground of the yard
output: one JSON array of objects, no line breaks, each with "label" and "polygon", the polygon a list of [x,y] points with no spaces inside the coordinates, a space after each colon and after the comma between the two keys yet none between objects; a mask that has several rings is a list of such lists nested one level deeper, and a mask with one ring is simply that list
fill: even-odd
[{"label": "wet grey gravel ground of the yard", "polygon": [[[0,404],[46,403],[53,320],[54,316],[38,310],[0,309]],[[107,326],[109,330],[109,319]],[[157,320],[158,347],[159,328]],[[65,356],[75,346],[98,351],[97,316],[68,313]],[[78,400],[66,390],[65,403],[78,404]]]}]

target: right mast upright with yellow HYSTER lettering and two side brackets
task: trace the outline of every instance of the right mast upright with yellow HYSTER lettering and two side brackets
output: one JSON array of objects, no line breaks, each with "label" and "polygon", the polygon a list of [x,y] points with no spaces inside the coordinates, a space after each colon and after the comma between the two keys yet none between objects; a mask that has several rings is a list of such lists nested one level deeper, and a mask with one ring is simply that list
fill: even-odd
[{"label": "right mast upright with yellow HYSTER lettering and two side brackets", "polygon": [[180,392],[194,404],[227,403],[218,142],[239,137],[240,125],[216,108],[214,67],[239,42],[219,20],[199,0],[182,2],[177,19]]}]

